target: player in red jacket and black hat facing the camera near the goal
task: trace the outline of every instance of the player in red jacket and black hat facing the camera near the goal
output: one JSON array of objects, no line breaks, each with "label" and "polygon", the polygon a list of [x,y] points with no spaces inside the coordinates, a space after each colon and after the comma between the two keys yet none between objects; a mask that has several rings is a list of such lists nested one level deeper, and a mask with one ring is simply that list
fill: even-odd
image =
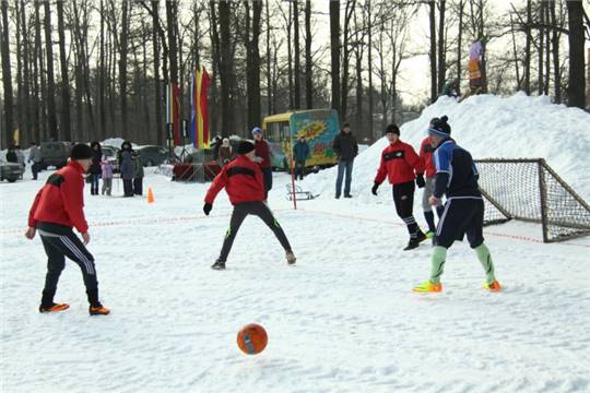
[{"label": "player in red jacket and black hat facing the camera near the goal", "polygon": [[411,145],[400,140],[398,126],[387,126],[385,135],[389,141],[389,146],[381,153],[381,164],[377,170],[371,192],[377,195],[377,189],[381,182],[386,177],[389,179],[389,182],[393,186],[396,211],[408,226],[410,233],[410,241],[404,250],[412,250],[426,239],[412,213],[414,207],[414,180],[418,188],[424,187],[424,163]]}]

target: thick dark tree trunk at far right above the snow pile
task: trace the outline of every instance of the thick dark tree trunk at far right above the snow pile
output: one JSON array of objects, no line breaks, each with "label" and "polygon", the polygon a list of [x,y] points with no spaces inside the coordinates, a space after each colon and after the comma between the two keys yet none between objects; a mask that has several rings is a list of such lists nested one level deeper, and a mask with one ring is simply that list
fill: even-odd
[{"label": "thick dark tree trunk at far right above the snow pile", "polygon": [[582,108],[586,105],[583,59],[583,8],[580,1],[566,1],[569,25],[569,82],[567,106]]}]

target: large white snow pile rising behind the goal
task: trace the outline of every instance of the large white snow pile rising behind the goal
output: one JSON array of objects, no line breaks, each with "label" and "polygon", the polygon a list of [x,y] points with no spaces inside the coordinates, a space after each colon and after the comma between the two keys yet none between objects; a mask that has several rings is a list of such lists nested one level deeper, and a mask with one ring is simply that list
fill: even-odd
[{"label": "large white snow pile rising behind the goal", "polygon": [[[452,138],[474,158],[545,158],[547,164],[585,200],[590,199],[590,115],[578,108],[552,104],[547,96],[480,95],[457,103],[441,97],[421,117],[401,127],[402,141],[417,151],[434,117],[449,117]],[[370,193],[385,138],[354,162],[352,193],[359,202],[376,201]],[[333,198],[337,168],[308,176],[303,187]],[[385,184],[384,184],[385,186]],[[386,195],[387,194],[387,195]],[[381,190],[377,201],[391,200]]]}]

